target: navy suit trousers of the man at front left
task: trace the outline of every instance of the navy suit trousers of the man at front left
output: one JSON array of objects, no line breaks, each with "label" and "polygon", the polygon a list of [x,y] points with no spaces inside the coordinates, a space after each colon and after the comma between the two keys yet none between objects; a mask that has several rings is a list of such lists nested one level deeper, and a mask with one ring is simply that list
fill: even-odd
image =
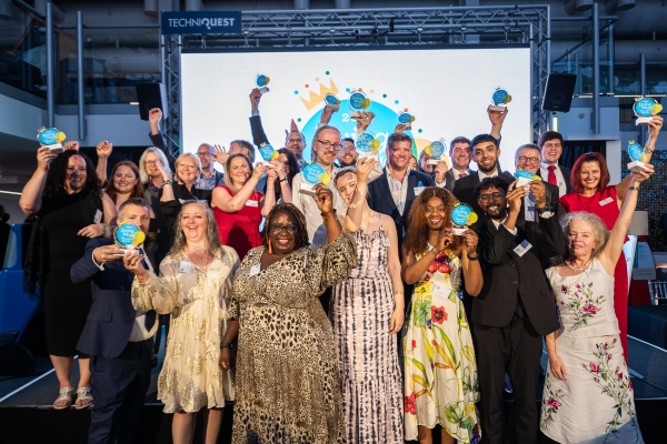
[{"label": "navy suit trousers of the man at front left", "polygon": [[132,443],[150,384],[152,340],[128,342],[118,357],[91,356],[93,406],[88,443]]}]

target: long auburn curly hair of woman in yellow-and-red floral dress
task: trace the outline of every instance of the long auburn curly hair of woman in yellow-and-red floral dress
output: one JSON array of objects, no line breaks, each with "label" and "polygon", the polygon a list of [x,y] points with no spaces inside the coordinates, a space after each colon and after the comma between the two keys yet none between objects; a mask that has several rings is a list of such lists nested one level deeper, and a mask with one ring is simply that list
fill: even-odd
[{"label": "long auburn curly hair of woman in yellow-and-red floral dress", "polygon": [[[404,246],[412,254],[424,254],[428,251],[429,228],[426,222],[426,203],[431,198],[438,198],[445,204],[445,223],[442,228],[451,228],[451,210],[458,202],[457,199],[445,188],[428,186],[415,199],[408,213],[408,226]],[[461,236],[454,238],[454,246],[462,243]]]}]

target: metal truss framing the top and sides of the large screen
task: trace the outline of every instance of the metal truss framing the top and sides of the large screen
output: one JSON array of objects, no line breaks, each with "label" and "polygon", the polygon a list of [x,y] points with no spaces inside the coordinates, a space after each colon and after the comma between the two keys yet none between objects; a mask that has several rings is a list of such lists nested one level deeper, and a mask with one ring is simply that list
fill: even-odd
[{"label": "metal truss framing the top and sides of the large screen", "polygon": [[[340,48],[369,46],[469,44],[502,48],[528,43],[531,53],[534,138],[547,129],[540,111],[547,75],[551,70],[550,9],[548,4],[507,7],[445,7],[409,9],[335,9],[243,11],[238,34],[183,34],[163,37],[171,50],[163,58],[170,98],[178,95],[180,50],[259,48]],[[175,40],[178,42],[175,43]],[[182,40],[181,40],[182,39]],[[182,44],[181,44],[182,43]],[[475,47],[472,47],[475,48]],[[166,133],[178,151],[180,102],[173,108]],[[171,110],[170,108],[170,110]],[[177,110],[178,109],[178,110]]]}]

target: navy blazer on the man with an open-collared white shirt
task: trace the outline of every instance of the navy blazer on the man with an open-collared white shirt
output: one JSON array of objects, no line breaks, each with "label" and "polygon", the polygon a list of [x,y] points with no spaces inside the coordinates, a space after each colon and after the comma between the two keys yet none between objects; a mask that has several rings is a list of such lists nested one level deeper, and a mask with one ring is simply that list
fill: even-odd
[{"label": "navy blazer on the man with an open-collared white shirt", "polygon": [[[368,206],[372,211],[378,213],[388,214],[394,219],[396,224],[396,232],[398,234],[398,243],[402,244],[404,233],[408,228],[408,213],[410,206],[415,202],[415,188],[422,183],[424,186],[435,186],[434,178],[419,171],[408,171],[408,192],[406,194],[406,204],[404,206],[404,213],[400,214],[396,202],[391,198],[391,191],[389,190],[389,181],[387,180],[387,169],[382,169],[382,174],[375,181],[368,184]],[[399,245],[400,246],[400,245]]]}]

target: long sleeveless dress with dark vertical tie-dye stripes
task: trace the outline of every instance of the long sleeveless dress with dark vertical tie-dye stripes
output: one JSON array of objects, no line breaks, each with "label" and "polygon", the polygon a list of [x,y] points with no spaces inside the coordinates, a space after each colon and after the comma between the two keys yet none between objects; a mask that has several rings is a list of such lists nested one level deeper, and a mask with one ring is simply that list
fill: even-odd
[{"label": "long sleeveless dress with dark vertical tie-dye stripes", "polygon": [[334,287],[330,316],[349,443],[404,443],[401,375],[389,331],[394,292],[382,228],[355,234],[359,265]]}]

